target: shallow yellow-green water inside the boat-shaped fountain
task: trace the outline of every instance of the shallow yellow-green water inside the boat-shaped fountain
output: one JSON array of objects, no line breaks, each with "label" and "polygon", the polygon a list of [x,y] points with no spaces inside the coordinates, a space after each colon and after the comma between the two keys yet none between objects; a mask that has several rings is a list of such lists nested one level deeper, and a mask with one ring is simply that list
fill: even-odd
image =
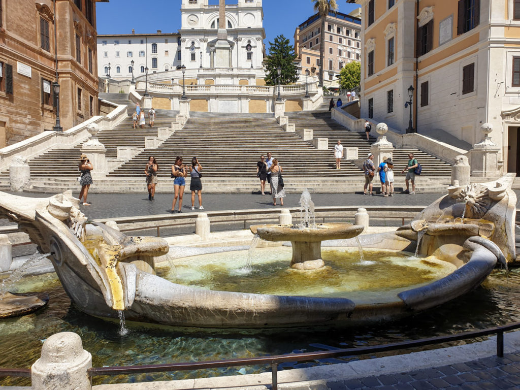
[{"label": "shallow yellow-green water inside the boat-shaped fountain", "polygon": [[178,284],[219,291],[256,294],[347,297],[361,292],[382,293],[430,283],[456,267],[434,257],[365,250],[361,262],[357,249],[321,250],[325,267],[318,270],[291,269],[292,249],[260,248],[250,269],[247,252],[213,253],[177,259],[177,275],[163,275]]}]

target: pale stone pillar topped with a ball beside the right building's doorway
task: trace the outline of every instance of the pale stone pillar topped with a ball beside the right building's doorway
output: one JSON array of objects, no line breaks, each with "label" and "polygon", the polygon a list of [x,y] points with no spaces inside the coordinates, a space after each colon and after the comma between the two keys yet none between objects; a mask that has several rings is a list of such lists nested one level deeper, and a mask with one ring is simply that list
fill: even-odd
[{"label": "pale stone pillar topped with a ball beside the right building's doorway", "polygon": [[480,126],[484,134],[482,141],[473,145],[470,150],[471,174],[478,177],[498,177],[501,172],[498,167],[500,148],[491,140],[489,134],[493,130],[490,123]]}]

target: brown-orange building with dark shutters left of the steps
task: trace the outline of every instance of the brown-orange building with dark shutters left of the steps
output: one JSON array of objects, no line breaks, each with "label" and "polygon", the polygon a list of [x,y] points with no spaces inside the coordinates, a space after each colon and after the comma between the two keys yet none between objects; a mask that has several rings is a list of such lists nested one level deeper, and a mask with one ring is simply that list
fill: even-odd
[{"label": "brown-orange building with dark shutters left of the steps", "polygon": [[0,147],[53,129],[56,81],[64,130],[96,115],[96,51],[96,0],[0,0]]}]

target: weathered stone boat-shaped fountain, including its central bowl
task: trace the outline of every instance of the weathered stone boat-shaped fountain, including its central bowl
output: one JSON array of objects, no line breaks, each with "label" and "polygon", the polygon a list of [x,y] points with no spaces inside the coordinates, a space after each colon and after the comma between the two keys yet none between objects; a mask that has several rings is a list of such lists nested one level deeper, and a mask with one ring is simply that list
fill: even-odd
[{"label": "weathered stone boat-shaped fountain, including its central bowl", "polygon": [[[349,297],[218,291],[174,283],[155,275],[154,258],[168,252],[164,240],[127,237],[103,224],[87,224],[70,192],[37,199],[0,193],[0,214],[17,222],[42,253],[51,253],[64,289],[85,313],[117,318],[122,311],[126,319],[136,321],[211,328],[358,325],[404,317],[453,300],[476,288],[497,261],[515,258],[515,204],[513,191],[488,183],[450,188],[411,224],[390,233],[356,237],[362,228],[350,224],[331,229],[289,227],[293,233],[297,230],[300,240],[273,233],[288,227],[253,229],[266,239],[305,243],[296,244],[296,250],[293,244],[288,272],[319,275],[328,269],[327,262],[321,263],[320,246],[357,248],[357,240],[363,248],[406,256],[417,249],[426,260],[435,257],[452,267],[435,280],[375,296],[360,291]],[[462,218],[464,213],[468,219]]]}]

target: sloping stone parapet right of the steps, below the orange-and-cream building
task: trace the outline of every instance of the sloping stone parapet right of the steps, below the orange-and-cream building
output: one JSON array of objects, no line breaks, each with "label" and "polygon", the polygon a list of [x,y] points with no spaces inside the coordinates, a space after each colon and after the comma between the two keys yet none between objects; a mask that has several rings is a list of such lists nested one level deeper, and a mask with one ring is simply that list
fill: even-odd
[{"label": "sloping stone parapet right of the steps, below the orange-and-cream building", "polygon": [[[332,110],[332,119],[351,131],[365,131],[365,119],[356,118],[344,110]],[[374,121],[370,122],[372,123],[372,128],[375,129],[377,123]],[[418,133],[402,133],[392,127],[388,127],[386,138],[397,148],[417,148],[450,164],[455,163],[456,156],[467,153],[467,150],[456,148],[434,138]]]}]

